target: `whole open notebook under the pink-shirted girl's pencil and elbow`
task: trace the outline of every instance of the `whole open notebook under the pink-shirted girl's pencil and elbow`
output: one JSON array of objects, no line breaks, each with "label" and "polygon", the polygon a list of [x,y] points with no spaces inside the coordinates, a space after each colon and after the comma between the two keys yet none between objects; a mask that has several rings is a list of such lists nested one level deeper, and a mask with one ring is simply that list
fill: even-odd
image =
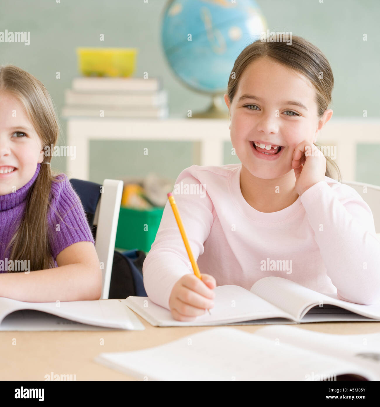
[{"label": "whole open notebook under the pink-shirted girl's pencil and elbow", "polygon": [[153,326],[380,320],[380,303],[361,305],[342,301],[336,294],[321,294],[281,277],[261,278],[250,291],[237,285],[222,285],[214,291],[211,315],[205,313],[191,322],[176,321],[169,310],[147,297],[130,296],[122,302]]}]

